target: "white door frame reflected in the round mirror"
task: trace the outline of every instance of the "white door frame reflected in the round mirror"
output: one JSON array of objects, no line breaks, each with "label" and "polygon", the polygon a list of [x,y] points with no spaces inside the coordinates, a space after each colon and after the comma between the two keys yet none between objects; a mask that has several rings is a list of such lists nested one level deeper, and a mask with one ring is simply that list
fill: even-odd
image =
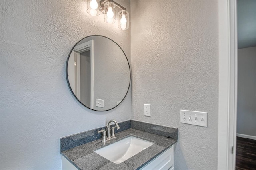
[{"label": "white door frame reflected in the round mirror", "polygon": [[74,57],[75,57],[75,95],[78,100],[81,101],[81,72],[80,72],[80,53],[90,50],[90,65],[91,65],[91,98],[90,98],[90,108],[94,108],[94,43],[93,40],[84,42],[80,45],[74,47]]}]

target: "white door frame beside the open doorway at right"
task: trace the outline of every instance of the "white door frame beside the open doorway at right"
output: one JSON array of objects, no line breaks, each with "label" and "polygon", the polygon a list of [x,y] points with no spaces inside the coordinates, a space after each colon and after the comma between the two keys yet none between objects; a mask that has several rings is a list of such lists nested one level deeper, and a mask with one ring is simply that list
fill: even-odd
[{"label": "white door frame beside the open doorway at right", "polygon": [[218,2],[218,170],[234,170],[237,115],[237,2],[236,0],[218,0]]}]

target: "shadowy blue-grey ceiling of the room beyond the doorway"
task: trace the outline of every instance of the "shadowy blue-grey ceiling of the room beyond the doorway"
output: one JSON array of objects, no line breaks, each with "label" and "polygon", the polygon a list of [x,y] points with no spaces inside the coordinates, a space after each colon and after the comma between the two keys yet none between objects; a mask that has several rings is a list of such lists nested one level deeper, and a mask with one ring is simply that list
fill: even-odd
[{"label": "shadowy blue-grey ceiling of the room beyond the doorway", "polygon": [[256,46],[256,0],[237,2],[238,49]]}]

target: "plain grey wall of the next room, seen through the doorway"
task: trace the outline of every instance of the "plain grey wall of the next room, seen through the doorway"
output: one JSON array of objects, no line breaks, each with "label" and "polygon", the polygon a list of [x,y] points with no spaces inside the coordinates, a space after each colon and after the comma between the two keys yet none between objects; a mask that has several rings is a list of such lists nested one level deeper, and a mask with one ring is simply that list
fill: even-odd
[{"label": "plain grey wall of the next room, seen through the doorway", "polygon": [[238,49],[237,133],[256,136],[256,47]]}]

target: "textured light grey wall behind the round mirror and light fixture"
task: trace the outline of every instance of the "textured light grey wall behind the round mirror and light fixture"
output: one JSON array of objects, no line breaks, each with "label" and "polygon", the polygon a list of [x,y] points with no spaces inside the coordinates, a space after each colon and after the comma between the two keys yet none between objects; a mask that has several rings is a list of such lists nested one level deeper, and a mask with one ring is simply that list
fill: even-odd
[{"label": "textured light grey wall behind the round mirror and light fixture", "polygon": [[[129,0],[117,0],[130,10]],[[130,60],[130,30],[86,13],[84,0],[0,1],[0,169],[60,169],[59,138],[131,118],[130,92],[111,111],[80,105],[65,66],[80,39],[100,34]]]}]

